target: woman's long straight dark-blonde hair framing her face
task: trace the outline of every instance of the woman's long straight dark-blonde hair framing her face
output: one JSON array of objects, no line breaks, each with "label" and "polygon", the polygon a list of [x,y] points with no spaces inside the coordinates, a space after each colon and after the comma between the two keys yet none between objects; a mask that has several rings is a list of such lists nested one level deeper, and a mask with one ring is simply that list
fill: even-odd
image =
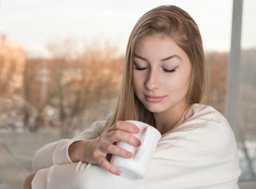
[{"label": "woman's long straight dark-blonde hair framing her face", "polygon": [[[146,110],[133,91],[133,53],[146,36],[168,36],[188,55],[191,74],[186,101],[200,103],[208,92],[207,64],[198,26],[190,15],[174,5],[162,5],[146,12],[132,29],[125,54],[125,69],[118,95],[117,107],[108,118],[105,130],[118,120],[139,120],[156,127],[153,113]],[[105,131],[104,130],[104,131]]]}]

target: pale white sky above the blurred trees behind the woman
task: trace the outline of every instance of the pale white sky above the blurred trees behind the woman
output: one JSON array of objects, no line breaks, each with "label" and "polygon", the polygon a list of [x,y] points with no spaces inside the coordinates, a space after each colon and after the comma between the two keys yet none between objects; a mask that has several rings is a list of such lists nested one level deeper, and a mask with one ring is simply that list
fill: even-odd
[{"label": "pale white sky above the blurred trees behind the woman", "polygon": [[[229,51],[232,0],[0,0],[0,34],[35,56],[48,56],[46,45],[65,38],[97,45],[108,40],[125,52],[138,19],[164,4],[179,6],[194,18],[204,50]],[[256,47],[255,7],[255,0],[244,0],[242,48]]]}]

